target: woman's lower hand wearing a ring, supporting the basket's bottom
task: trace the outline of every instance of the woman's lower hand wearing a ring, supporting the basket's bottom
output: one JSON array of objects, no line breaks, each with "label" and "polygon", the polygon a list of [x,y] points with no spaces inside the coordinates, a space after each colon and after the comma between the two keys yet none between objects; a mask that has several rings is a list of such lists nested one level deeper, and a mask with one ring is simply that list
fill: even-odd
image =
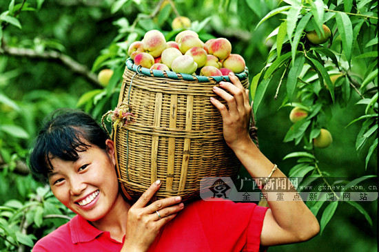
[{"label": "woman's lower hand wearing a ring, supporting the basket's bottom", "polygon": [[180,196],[148,204],[160,187],[161,181],[157,180],[130,207],[127,212],[125,242],[121,251],[147,251],[161,228],[183,209],[184,204]]}]

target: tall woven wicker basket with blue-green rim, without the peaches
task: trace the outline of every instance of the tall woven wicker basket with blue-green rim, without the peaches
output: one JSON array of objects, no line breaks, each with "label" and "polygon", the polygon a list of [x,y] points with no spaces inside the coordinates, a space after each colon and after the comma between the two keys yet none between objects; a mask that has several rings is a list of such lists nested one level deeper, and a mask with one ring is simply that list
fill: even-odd
[{"label": "tall woven wicker basket with blue-green rim, without the peaches", "polygon": [[[237,76],[248,87],[247,69]],[[240,162],[225,144],[221,114],[209,102],[216,97],[214,85],[223,80],[229,77],[149,70],[127,59],[119,104],[130,107],[133,119],[112,132],[127,198],[138,199],[159,179],[153,200],[189,200],[199,196],[204,177],[235,178]]]}]

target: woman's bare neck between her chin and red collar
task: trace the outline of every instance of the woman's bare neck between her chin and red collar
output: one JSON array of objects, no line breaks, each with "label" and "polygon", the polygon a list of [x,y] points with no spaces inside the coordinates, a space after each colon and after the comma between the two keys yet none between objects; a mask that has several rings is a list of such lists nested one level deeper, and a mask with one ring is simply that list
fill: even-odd
[{"label": "woman's bare neck between her chin and red collar", "polygon": [[127,211],[130,207],[131,205],[119,193],[112,209],[103,218],[90,224],[96,229],[110,232],[112,239],[122,242],[126,231]]}]

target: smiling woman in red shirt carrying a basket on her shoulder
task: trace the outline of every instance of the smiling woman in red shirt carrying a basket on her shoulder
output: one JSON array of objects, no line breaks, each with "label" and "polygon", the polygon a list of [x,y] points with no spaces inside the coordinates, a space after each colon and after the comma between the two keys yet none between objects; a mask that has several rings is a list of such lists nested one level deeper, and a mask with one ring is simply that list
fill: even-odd
[{"label": "smiling woman in red shirt carrying a basket on her shoulder", "polygon": [[[285,178],[249,137],[248,93],[234,74],[229,78],[232,83],[214,87],[227,107],[210,98],[223,116],[227,145],[253,178]],[[54,196],[77,213],[33,251],[259,251],[303,242],[319,231],[301,200],[268,198],[269,208],[227,200],[183,204],[180,197],[150,203],[161,186],[158,180],[134,204],[127,202],[118,186],[112,140],[81,112],[56,116],[45,125],[30,164],[48,178]]]}]

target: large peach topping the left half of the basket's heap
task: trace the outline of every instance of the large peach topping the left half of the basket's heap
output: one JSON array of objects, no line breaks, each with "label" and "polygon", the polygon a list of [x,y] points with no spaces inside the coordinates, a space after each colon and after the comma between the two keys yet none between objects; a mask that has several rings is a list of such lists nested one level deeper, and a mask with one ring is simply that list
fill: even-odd
[{"label": "large peach topping the left half of the basket's heap", "polygon": [[166,39],[162,32],[158,30],[150,30],[143,36],[143,50],[151,54],[154,58],[161,56],[163,50],[166,49]]}]

